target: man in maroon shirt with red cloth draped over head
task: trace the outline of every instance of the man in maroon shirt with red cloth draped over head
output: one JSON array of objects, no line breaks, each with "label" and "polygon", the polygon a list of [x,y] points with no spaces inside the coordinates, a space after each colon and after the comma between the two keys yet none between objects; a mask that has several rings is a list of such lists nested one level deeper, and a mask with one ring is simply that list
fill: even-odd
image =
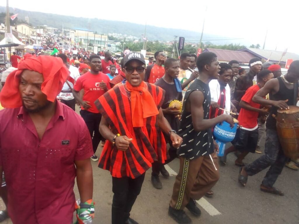
[{"label": "man in maroon shirt with red cloth draped over head", "polygon": [[31,57],[10,73],[0,93],[6,108],[0,111],[0,173],[14,224],[72,223],[76,176],[80,207],[87,207],[86,219],[94,216],[89,131],[56,100],[67,77],[60,58]]}]

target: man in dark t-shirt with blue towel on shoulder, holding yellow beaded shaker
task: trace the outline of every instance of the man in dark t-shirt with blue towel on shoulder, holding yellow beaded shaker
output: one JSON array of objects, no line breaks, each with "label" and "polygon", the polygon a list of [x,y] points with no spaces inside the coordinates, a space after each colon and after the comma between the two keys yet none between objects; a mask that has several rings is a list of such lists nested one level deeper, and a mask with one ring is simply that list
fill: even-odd
[{"label": "man in dark t-shirt with blue towel on shoulder, holding yellow beaded shaker", "polygon": [[[155,85],[161,87],[165,90],[165,98],[164,102],[161,105],[163,115],[167,119],[168,123],[170,124],[171,128],[173,130],[178,131],[179,130],[179,110],[173,110],[173,107],[169,107],[169,103],[172,100],[179,100],[181,101],[183,98],[182,95],[182,87],[181,82],[177,78],[179,75],[179,60],[169,58],[164,63],[165,73],[164,76],[162,76],[161,79],[159,79],[157,82],[155,82]],[[180,102],[181,103],[181,102]],[[168,133],[164,135],[165,141],[167,143],[170,142],[170,138],[168,136]],[[164,164],[167,164],[171,162],[173,159],[176,158],[176,148],[172,146],[170,143],[169,148],[169,156],[170,158],[165,161]],[[152,185],[156,189],[162,188],[162,183],[159,179],[159,174],[162,174],[164,178],[169,177],[169,173],[165,169],[164,165],[159,163],[158,161],[155,161],[152,163]]]}]

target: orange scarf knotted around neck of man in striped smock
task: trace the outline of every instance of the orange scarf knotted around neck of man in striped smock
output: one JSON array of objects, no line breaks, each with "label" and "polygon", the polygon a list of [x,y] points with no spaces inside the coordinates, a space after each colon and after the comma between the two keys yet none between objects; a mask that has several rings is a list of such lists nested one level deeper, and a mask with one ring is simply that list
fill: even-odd
[{"label": "orange scarf knotted around neck of man in striped smock", "polygon": [[128,81],[126,82],[126,88],[131,93],[133,127],[142,127],[144,126],[144,118],[159,114],[157,105],[152,95],[145,88],[146,86],[145,82],[142,82],[138,87],[133,87]]}]

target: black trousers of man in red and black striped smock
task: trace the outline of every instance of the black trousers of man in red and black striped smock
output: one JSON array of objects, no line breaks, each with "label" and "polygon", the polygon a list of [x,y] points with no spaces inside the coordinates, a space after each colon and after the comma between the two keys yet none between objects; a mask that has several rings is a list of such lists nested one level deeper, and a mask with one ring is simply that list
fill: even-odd
[{"label": "black trousers of man in red and black striped smock", "polygon": [[112,224],[124,224],[140,194],[145,173],[132,179],[129,177],[112,177]]}]

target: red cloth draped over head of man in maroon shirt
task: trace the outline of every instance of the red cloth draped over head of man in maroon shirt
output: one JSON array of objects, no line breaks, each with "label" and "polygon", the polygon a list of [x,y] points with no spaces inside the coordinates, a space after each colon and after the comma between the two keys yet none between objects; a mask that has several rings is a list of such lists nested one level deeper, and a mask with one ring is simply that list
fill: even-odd
[{"label": "red cloth draped over head of man in maroon shirt", "polygon": [[19,92],[19,78],[23,70],[26,69],[36,71],[44,76],[41,89],[51,102],[54,102],[69,75],[69,71],[61,58],[52,56],[27,58],[19,63],[18,70],[13,71],[7,76],[5,85],[0,93],[0,102],[4,108],[22,106],[21,94]]}]

